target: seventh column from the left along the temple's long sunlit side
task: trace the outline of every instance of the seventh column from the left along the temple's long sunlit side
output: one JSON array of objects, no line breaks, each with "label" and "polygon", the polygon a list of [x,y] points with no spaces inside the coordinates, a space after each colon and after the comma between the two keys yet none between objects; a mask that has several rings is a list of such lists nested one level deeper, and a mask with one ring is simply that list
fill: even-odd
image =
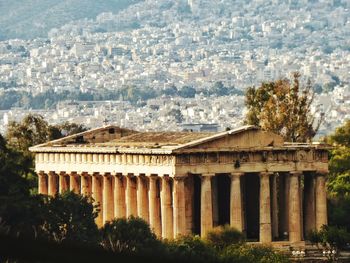
[{"label": "seventh column from the left along the temple's long sunlit side", "polygon": [[103,176],[103,224],[114,218],[113,178],[110,173]]}]

